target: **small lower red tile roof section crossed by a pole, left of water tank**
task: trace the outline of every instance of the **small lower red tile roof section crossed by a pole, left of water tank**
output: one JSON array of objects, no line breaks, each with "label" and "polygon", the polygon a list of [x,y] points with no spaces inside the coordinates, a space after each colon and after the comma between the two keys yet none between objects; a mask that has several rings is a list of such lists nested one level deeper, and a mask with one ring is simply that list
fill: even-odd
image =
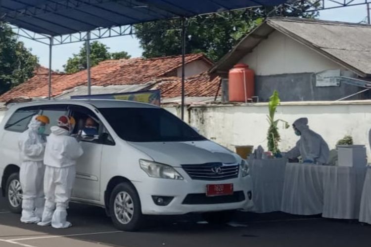
[{"label": "small lower red tile roof section crossed by a pole, left of water tank", "polygon": [[[221,78],[216,75],[210,75],[203,72],[199,75],[188,77],[185,80],[185,96],[187,97],[209,97],[215,96]],[[157,83],[151,89],[160,89],[161,97],[174,98],[182,95],[182,80],[179,78],[164,78],[156,80]],[[219,89],[218,95],[221,95]]]}]

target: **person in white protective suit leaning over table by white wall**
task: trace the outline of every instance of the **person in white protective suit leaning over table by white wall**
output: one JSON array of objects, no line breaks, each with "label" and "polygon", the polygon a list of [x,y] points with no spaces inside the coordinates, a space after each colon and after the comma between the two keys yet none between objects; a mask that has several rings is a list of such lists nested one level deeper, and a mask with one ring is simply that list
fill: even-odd
[{"label": "person in white protective suit leaning over table by white wall", "polygon": [[292,126],[300,139],[296,146],[285,154],[285,157],[295,159],[301,156],[304,163],[327,164],[329,159],[328,145],[321,135],[309,129],[308,119],[300,118]]}]

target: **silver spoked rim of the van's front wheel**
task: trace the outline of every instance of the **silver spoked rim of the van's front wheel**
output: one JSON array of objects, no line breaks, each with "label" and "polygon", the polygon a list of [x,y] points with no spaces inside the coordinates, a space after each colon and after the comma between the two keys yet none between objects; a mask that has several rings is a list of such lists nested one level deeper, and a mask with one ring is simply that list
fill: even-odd
[{"label": "silver spoked rim of the van's front wheel", "polygon": [[134,202],[129,193],[122,191],[116,195],[115,216],[121,224],[128,224],[134,216]]}]

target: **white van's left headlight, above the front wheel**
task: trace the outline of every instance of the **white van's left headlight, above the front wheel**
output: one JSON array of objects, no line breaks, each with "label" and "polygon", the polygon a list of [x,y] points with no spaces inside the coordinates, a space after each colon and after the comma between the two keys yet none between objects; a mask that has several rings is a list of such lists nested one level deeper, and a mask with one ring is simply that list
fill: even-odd
[{"label": "white van's left headlight, above the front wheel", "polygon": [[182,175],[170,165],[145,160],[139,160],[139,165],[140,168],[150,177],[183,180]]}]

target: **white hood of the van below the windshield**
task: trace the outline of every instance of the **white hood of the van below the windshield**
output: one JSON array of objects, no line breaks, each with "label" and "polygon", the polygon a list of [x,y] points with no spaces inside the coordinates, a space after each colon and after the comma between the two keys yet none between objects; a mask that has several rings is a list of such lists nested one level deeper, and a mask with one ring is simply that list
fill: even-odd
[{"label": "white hood of the van below the windshield", "polygon": [[130,144],[150,156],[155,162],[172,166],[238,162],[231,151],[212,141],[130,142]]}]

